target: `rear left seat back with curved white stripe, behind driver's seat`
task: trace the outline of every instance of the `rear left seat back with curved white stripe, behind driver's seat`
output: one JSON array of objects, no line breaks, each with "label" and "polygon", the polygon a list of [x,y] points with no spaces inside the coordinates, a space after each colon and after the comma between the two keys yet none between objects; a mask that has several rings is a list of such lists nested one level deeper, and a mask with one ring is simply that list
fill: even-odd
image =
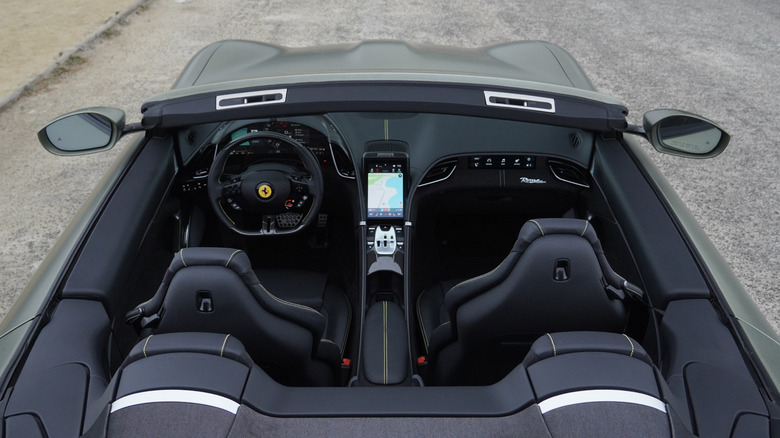
[{"label": "rear left seat back with curved white stripe, behind driver's seat", "polygon": [[231,335],[149,335],[88,407],[82,437],[226,437],[257,371]]}]

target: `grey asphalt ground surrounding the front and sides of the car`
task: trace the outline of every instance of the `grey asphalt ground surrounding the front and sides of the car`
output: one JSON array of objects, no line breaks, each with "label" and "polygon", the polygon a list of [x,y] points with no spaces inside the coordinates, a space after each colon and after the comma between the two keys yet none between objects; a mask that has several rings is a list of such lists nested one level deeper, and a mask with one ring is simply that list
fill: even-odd
[{"label": "grey asphalt ground surrounding the front and sides of the car", "polygon": [[145,98],[167,90],[197,50],[222,39],[291,47],[540,39],[571,52],[597,89],[628,105],[632,123],[651,109],[678,108],[732,134],[729,148],[710,160],[647,150],[780,328],[776,0],[151,0],[131,12],[76,52],[80,62],[57,69],[0,112],[0,315],[126,144],[103,154],[51,156],[35,134],[55,116],[110,105],[136,122]]}]

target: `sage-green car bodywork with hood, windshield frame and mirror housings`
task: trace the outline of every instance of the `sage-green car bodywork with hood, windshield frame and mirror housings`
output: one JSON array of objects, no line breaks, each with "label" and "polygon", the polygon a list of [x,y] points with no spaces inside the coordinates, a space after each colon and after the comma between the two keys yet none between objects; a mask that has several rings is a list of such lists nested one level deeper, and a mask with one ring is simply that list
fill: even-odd
[{"label": "sage-green car bodywork with hood, windshield frame and mirror housings", "polygon": [[[348,92],[341,95],[331,92],[334,89]],[[434,91],[423,98],[416,94],[418,89]],[[496,91],[483,94],[485,89]],[[310,94],[300,98],[296,95],[299,90]],[[412,91],[401,95],[396,93],[398,90]],[[300,103],[296,99],[301,99]],[[389,112],[409,113],[416,108],[426,112],[436,108],[435,112],[443,114],[587,129],[603,137],[595,140],[596,148],[614,139],[624,143],[695,258],[717,305],[728,315],[727,326],[746,362],[771,396],[780,395],[780,337],[637,140],[640,136],[648,138],[662,152],[703,158],[720,153],[728,143],[728,134],[706,119],[674,110],[649,113],[645,126],[629,125],[625,105],[598,93],[577,62],[553,44],[534,41],[455,49],[375,41],[354,46],[286,49],[248,41],[218,42],[193,57],[171,91],[144,103],[139,123],[125,124],[124,114],[109,108],[91,108],[63,116],[97,115],[111,132],[105,144],[60,153],[104,150],[121,135],[133,132],[175,130],[223,118],[262,118],[275,111],[274,105],[286,105],[285,116],[296,116],[309,111],[372,112],[388,104]],[[557,105],[560,111],[549,111],[548,105],[553,110]],[[570,108],[576,111],[567,113]],[[249,114],[244,114],[247,111]],[[676,149],[658,131],[670,117],[705,123],[710,133],[717,135],[717,145],[698,155]],[[39,133],[41,142],[47,149],[57,151],[46,129]],[[61,282],[69,275],[95,221],[146,141],[139,136],[125,147],[0,323],[4,398],[9,396],[8,385],[18,372],[16,367],[24,363],[25,352],[56,307]]]}]

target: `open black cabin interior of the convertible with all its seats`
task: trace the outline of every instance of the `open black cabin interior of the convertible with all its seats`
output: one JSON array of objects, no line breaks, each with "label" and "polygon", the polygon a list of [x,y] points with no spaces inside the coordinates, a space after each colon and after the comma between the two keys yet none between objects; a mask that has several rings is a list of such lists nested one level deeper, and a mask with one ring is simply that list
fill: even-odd
[{"label": "open black cabin interior of the convertible with all its seats", "polygon": [[389,82],[330,106],[294,100],[337,100],[312,83],[176,95],[220,47],[144,105],[5,436],[769,436],[775,394],[610,128],[624,107],[473,84],[449,106]]}]

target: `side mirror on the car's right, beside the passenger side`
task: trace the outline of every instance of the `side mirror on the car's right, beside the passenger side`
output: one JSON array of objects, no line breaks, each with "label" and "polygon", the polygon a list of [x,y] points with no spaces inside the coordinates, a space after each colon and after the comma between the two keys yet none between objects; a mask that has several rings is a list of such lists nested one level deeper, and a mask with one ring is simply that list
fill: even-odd
[{"label": "side mirror on the car's right, beside the passenger side", "polygon": [[731,139],[714,122],[678,110],[647,112],[643,125],[658,152],[688,158],[714,157],[726,149]]}]

